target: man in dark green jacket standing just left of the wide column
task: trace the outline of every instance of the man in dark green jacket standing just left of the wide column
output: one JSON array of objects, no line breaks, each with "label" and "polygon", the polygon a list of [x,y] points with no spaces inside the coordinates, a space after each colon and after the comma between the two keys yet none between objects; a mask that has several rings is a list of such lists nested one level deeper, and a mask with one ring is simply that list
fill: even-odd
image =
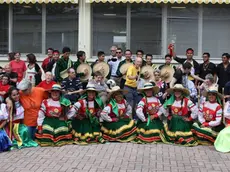
[{"label": "man in dark green jacket standing just left of the wide column", "polygon": [[63,80],[64,75],[67,74],[67,70],[73,66],[72,60],[70,60],[70,48],[64,47],[62,49],[62,57],[57,61],[55,68],[55,79],[57,82],[61,82]]}]

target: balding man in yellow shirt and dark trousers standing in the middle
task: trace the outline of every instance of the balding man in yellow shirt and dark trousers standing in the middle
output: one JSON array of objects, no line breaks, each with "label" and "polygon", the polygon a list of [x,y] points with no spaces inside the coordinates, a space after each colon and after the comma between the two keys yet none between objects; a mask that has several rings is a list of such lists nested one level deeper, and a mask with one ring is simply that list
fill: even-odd
[{"label": "balding man in yellow shirt and dark trousers standing in the middle", "polygon": [[[137,57],[135,60],[135,64],[128,68],[126,73],[126,81],[124,90],[127,90],[127,94],[125,95],[127,102],[135,109],[135,106],[138,102],[136,102],[137,94],[137,85],[138,80],[140,78],[140,68],[142,65],[142,58]],[[133,111],[134,112],[134,111]]]}]

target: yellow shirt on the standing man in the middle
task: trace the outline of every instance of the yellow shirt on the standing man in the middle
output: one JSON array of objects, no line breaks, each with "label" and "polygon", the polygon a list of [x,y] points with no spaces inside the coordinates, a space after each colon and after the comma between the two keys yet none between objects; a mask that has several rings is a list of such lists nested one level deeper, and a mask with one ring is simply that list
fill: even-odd
[{"label": "yellow shirt on the standing man in the middle", "polygon": [[128,68],[126,73],[126,82],[125,82],[126,86],[133,87],[133,88],[137,87],[137,80],[129,79],[128,76],[136,76],[138,72],[140,72],[140,69],[137,69],[135,65],[132,65]]}]

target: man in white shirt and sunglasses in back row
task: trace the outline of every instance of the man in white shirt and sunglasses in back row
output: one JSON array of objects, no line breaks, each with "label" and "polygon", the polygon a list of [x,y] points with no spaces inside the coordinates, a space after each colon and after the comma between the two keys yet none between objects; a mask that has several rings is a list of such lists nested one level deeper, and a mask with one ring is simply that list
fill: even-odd
[{"label": "man in white shirt and sunglasses in back row", "polygon": [[120,81],[121,81],[121,78],[117,76],[116,72],[117,72],[117,68],[119,66],[119,63],[124,60],[124,57],[122,56],[123,53],[122,53],[122,49],[121,48],[117,48],[117,51],[116,51],[116,57],[113,57],[111,58],[109,61],[108,61],[108,64],[110,66],[110,70],[111,70],[111,77],[110,79],[114,80],[116,82],[116,85],[120,85]]}]

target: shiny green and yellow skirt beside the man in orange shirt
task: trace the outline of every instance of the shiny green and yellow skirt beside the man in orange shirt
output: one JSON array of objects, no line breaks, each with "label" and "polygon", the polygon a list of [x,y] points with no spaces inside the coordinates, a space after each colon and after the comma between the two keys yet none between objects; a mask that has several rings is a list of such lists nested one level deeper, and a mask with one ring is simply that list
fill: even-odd
[{"label": "shiny green and yellow skirt beside the man in orange shirt", "polygon": [[24,124],[14,124],[13,136],[12,148],[21,149],[38,146],[38,144],[30,138],[28,128]]}]

